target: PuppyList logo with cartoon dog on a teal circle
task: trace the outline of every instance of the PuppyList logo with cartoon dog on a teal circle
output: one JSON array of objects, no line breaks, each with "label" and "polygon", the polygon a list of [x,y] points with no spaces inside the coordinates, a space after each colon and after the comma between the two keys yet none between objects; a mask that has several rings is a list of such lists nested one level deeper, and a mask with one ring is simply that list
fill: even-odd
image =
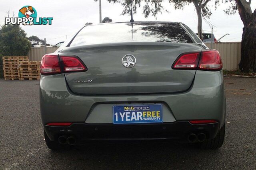
[{"label": "PuppyList logo with cartoon dog on a teal circle", "polygon": [[52,17],[37,18],[36,9],[32,6],[23,6],[19,10],[18,18],[5,18],[5,25],[52,25]]}]

